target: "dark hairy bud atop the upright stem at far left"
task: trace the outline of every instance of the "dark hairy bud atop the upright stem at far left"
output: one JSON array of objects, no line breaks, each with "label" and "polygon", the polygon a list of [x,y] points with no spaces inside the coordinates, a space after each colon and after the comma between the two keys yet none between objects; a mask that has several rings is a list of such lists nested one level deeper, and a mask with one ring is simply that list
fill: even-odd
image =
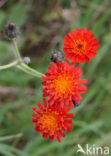
[{"label": "dark hairy bud atop the upright stem at far left", "polygon": [[18,34],[18,28],[16,27],[16,24],[11,22],[9,25],[5,28],[5,36],[8,39],[16,38]]}]

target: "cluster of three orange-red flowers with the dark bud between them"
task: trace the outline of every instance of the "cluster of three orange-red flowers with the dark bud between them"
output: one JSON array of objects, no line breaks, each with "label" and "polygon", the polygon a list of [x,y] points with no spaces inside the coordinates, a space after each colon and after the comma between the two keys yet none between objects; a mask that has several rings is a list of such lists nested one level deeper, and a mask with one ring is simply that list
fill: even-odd
[{"label": "cluster of three orange-red flowers with the dark bud between them", "polygon": [[38,108],[33,107],[32,122],[35,130],[51,140],[65,137],[64,131],[72,131],[72,113],[68,113],[81,100],[87,87],[87,79],[82,79],[81,66],[76,63],[89,62],[96,56],[99,48],[98,40],[94,34],[87,29],[73,30],[64,39],[64,57],[68,60],[62,61],[60,52],[51,56],[53,61],[45,76],[42,76],[43,104],[37,103]]}]

